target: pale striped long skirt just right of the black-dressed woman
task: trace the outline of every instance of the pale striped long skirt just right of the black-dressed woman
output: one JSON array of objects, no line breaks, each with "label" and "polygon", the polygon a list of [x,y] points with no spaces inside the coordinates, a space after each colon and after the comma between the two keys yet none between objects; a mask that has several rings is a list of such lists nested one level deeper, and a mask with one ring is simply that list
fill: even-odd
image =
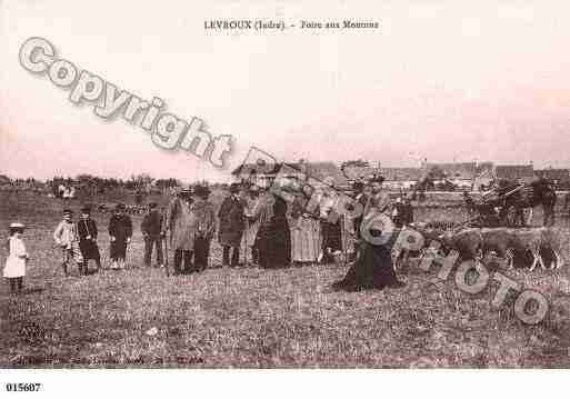
[{"label": "pale striped long skirt just right of the black-dressed woman", "polygon": [[321,252],[321,226],[318,220],[299,218],[291,228],[291,257],[294,262],[316,262]]}]

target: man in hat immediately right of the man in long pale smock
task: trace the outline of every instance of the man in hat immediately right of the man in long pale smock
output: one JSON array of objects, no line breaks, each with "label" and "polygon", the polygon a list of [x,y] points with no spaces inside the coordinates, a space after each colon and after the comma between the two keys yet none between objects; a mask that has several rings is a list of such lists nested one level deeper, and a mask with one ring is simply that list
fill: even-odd
[{"label": "man in hat immediately right of the man in long pale smock", "polygon": [[203,271],[208,267],[210,242],[216,231],[216,212],[213,205],[208,201],[210,189],[197,186],[194,190],[197,200],[192,203],[192,211],[198,218],[198,231],[194,238],[194,268]]}]

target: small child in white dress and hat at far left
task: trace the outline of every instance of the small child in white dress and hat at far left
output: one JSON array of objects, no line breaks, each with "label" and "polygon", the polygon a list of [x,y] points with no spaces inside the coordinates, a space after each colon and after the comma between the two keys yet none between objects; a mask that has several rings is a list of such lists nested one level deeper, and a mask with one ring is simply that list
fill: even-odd
[{"label": "small child in white dress and hat at far left", "polygon": [[6,260],[3,276],[10,282],[10,292],[21,292],[23,288],[23,277],[26,276],[26,263],[30,259],[26,251],[26,246],[21,239],[23,235],[22,223],[10,225],[10,238],[8,239],[9,255]]}]

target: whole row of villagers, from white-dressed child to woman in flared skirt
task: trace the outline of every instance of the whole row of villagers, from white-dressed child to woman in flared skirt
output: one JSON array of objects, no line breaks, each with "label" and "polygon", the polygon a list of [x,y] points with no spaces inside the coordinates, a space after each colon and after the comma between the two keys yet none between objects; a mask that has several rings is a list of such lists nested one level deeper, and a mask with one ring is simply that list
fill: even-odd
[{"label": "whole row of villagers, from white-dressed child to woman in flared skirt", "polygon": [[[338,258],[354,260],[347,277],[334,285],[339,289],[383,288],[398,286],[391,265],[390,249],[374,246],[361,237],[361,225],[374,215],[384,213],[396,227],[403,228],[413,221],[413,210],[406,196],[394,203],[382,191],[382,179],[354,184],[354,199],[363,209],[358,218],[344,215],[331,218],[338,210],[339,191],[334,180],[327,178],[319,187],[303,186],[289,192],[287,198],[276,194],[268,187],[252,183],[232,183],[218,212],[209,200],[210,190],[196,186],[176,193],[164,212],[157,203],[141,222],[144,240],[144,265],[151,266],[156,251],[156,267],[163,267],[168,246],[173,251],[173,275],[199,272],[208,268],[211,241],[218,232],[222,248],[221,267],[243,263],[261,268],[288,267],[292,263],[330,262]],[[286,200],[286,199],[287,200]],[[127,248],[132,237],[132,221],[126,206],[118,205],[109,220],[111,269],[126,268]],[[372,228],[371,233],[374,232]],[[13,290],[21,287],[28,257],[21,240],[23,226],[10,227],[10,256],[4,277]],[[378,232],[378,230],[377,230]],[[83,207],[80,219],[73,221],[70,209],[53,232],[56,246],[61,248],[62,269],[69,275],[71,260],[81,276],[88,273],[88,263],[94,261],[101,269],[97,242],[98,227],[91,219],[91,209]],[[166,242],[167,253],[162,251]],[[13,282],[12,282],[13,281]]]}]

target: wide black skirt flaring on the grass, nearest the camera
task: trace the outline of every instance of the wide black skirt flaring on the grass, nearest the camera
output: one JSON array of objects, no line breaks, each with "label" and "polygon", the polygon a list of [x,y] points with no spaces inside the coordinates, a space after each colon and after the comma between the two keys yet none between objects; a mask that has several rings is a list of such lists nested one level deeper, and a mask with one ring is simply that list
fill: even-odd
[{"label": "wide black skirt flaring on the grass, nearest the camera", "polygon": [[332,287],[337,290],[360,291],[382,289],[398,283],[388,246],[373,246],[364,242],[356,263],[344,278]]}]

